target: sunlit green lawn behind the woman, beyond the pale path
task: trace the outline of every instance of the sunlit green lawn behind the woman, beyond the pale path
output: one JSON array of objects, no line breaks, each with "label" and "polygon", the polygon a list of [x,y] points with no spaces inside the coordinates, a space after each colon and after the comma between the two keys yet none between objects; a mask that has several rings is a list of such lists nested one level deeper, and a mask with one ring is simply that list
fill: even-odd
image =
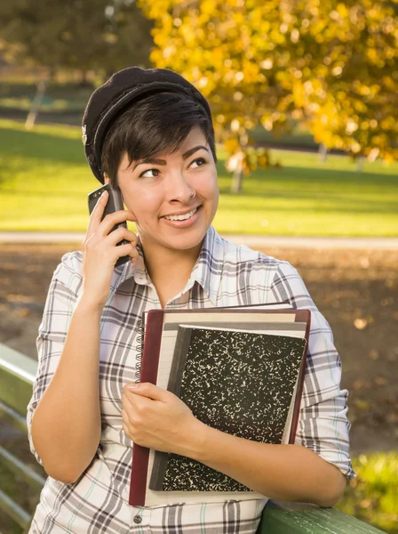
[{"label": "sunlit green lawn behind the woman, beyond the pale path", "polygon": [[[87,193],[100,183],[84,158],[76,126],[0,120],[0,231],[85,231]],[[272,150],[283,168],[253,173],[243,192],[229,193],[231,176],[219,163],[221,233],[260,235],[398,235],[398,163]],[[219,151],[222,160],[222,150]]]}]

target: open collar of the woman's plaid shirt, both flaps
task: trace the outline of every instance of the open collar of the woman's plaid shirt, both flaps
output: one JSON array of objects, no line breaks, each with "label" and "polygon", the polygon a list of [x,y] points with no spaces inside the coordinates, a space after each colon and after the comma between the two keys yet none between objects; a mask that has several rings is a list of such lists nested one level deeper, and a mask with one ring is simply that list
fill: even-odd
[{"label": "open collar of the woman's plaid shirt, both flaps", "polygon": [[[150,283],[147,267],[144,261],[144,251],[138,237],[137,250],[139,257],[135,263],[124,263],[116,267],[112,280],[112,292],[115,292],[128,279],[134,279],[137,284],[148,285]],[[182,293],[194,286],[195,281],[203,287],[211,303],[217,305],[219,283],[224,262],[224,239],[210,226],[206,232],[203,245],[198,259],[196,260],[191,276],[187,281]]]}]

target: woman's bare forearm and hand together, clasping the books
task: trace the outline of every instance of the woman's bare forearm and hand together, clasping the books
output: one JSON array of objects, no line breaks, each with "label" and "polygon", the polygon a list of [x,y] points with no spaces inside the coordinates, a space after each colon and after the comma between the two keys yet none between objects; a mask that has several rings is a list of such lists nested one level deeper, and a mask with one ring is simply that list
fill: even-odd
[{"label": "woman's bare forearm and hand together, clasping the books", "polygon": [[344,474],[313,450],[221,432],[155,384],[126,384],[122,403],[123,430],[138,445],[193,458],[268,498],[334,506],[345,488]]}]

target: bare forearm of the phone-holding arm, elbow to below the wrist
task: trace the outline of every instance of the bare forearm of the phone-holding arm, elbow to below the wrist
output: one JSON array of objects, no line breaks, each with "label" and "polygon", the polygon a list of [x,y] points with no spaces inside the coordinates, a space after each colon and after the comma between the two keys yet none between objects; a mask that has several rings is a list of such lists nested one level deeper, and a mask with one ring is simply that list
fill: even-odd
[{"label": "bare forearm of the phone-holding arm, elbow to below the wrist", "polygon": [[46,473],[76,481],[100,442],[101,308],[76,303],[60,362],[32,418],[31,434]]}]

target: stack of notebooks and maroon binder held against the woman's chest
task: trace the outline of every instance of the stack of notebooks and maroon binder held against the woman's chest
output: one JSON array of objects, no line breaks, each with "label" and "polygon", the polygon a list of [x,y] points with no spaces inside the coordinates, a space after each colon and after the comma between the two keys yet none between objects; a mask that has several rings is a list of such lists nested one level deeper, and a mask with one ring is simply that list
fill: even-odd
[{"label": "stack of notebooks and maroon binder held against the woman's chest", "polygon": [[[139,380],[176,394],[204,424],[262,443],[293,443],[311,313],[289,303],[151,310]],[[192,458],[133,443],[131,506],[266,496]]]}]

